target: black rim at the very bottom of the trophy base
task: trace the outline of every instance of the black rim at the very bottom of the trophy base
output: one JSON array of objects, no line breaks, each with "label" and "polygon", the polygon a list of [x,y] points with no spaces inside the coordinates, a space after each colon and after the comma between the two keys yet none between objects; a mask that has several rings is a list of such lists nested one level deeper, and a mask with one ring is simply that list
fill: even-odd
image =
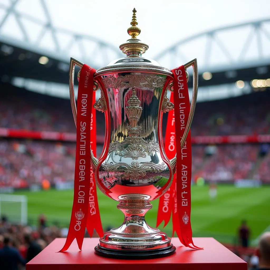
[{"label": "black rim at the very bottom of the trophy base", "polygon": [[143,250],[104,248],[99,244],[95,247],[95,253],[97,255],[115,259],[154,259],[170,256],[175,251],[176,247],[173,244],[166,248]]}]

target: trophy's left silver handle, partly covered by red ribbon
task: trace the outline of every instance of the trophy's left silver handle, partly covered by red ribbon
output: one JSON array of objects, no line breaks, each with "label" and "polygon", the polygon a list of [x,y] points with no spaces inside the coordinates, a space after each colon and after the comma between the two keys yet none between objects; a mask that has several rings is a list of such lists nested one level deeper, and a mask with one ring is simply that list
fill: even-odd
[{"label": "trophy's left silver handle, partly covered by red ribbon", "polygon": [[[71,57],[70,58],[70,65],[69,65],[69,95],[70,95],[71,109],[72,109],[75,125],[77,126],[77,107],[76,107],[75,94],[74,94],[74,69],[75,69],[75,65],[82,68],[83,63],[81,63],[78,60]],[[79,74],[80,74],[80,72],[78,73],[78,76],[77,76],[78,80],[80,77]],[[96,157],[94,157],[94,154],[93,154],[91,148],[90,148],[90,153],[91,153],[90,156],[91,156],[93,168],[96,169],[98,159]]]}]

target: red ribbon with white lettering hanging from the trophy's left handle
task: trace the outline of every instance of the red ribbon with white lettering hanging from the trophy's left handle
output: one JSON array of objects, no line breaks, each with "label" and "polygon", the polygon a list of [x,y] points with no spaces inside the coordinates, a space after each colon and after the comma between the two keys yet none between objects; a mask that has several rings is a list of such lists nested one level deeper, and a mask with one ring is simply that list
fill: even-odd
[{"label": "red ribbon with white lettering hanging from the trophy's left handle", "polygon": [[[66,251],[75,238],[81,250],[86,227],[90,236],[92,236],[94,228],[96,228],[99,234],[101,232],[103,234],[97,205],[96,184],[93,177],[93,170],[91,171],[92,166],[90,165],[91,142],[93,146],[96,145],[95,112],[94,110],[92,112],[92,104],[95,100],[93,97],[93,76],[95,71],[95,69],[83,65],[80,72],[77,98],[73,206],[66,243],[60,251]],[[96,151],[95,147],[94,150]],[[96,209],[95,213],[93,213],[93,205]],[[91,218],[92,215],[94,215],[93,218]]]}]

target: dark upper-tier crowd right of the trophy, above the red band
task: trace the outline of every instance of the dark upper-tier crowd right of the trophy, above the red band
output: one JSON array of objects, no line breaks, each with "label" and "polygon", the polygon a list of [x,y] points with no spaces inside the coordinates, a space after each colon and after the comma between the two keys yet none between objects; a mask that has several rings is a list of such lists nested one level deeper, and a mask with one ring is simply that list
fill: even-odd
[{"label": "dark upper-tier crowd right of the trophy, above the red band", "polygon": [[270,91],[197,103],[192,136],[270,133]]}]

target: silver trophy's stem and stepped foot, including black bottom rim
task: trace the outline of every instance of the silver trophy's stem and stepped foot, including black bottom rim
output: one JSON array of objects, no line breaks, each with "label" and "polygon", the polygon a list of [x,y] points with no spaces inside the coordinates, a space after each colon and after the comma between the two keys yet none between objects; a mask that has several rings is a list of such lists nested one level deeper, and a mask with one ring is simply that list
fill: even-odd
[{"label": "silver trophy's stem and stepped foot, including black bottom rim", "polygon": [[104,234],[95,247],[98,255],[112,258],[157,258],[171,255],[176,248],[164,232],[150,227],[145,221],[152,208],[149,200],[120,200],[117,208],[125,219],[123,224]]}]

